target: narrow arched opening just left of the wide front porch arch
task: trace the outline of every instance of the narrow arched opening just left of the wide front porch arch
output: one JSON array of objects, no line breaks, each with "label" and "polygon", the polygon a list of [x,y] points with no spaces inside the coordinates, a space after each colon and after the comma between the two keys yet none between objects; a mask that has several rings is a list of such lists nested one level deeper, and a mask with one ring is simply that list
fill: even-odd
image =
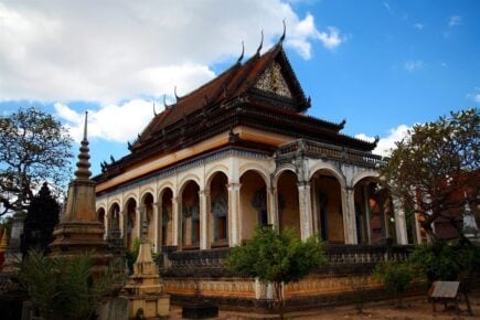
[{"label": "narrow arched opening just left of the wide front porch arch", "polygon": [[280,232],[286,228],[296,231],[300,237],[300,214],[298,203],[297,174],[286,170],[277,181],[277,209]]}]

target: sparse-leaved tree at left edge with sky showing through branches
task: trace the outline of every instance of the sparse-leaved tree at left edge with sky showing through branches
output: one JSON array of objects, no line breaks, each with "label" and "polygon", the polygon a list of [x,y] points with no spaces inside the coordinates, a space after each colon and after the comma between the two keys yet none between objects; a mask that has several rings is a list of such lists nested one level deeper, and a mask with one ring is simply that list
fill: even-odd
[{"label": "sparse-leaved tree at left edge with sky showing through branches", "polygon": [[66,128],[34,107],[0,116],[0,216],[26,209],[43,182],[67,181],[71,143]]}]

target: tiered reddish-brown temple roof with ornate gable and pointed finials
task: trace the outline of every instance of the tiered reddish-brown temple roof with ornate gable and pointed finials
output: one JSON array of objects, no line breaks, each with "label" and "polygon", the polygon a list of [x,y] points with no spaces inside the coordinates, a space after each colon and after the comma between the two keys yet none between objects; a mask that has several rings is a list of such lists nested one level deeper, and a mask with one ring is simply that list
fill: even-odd
[{"label": "tiered reddish-brown temple roof with ornate gable and pointed finials", "polygon": [[[268,73],[279,82],[279,92],[263,87],[271,81],[265,81]],[[118,169],[121,164],[126,168],[152,156],[167,154],[237,126],[360,151],[375,148],[375,142],[340,134],[345,121],[334,124],[307,116],[305,113],[309,107],[310,98],[303,94],[280,41],[263,55],[257,51],[243,64],[238,60],[214,79],[183,97],[177,97],[175,104],[166,106],[154,116],[129,146],[131,153],[117,161],[115,167]],[[265,150],[271,151],[271,146],[265,146]],[[105,166],[106,171],[108,167]],[[107,175],[111,177],[111,172]]]}]

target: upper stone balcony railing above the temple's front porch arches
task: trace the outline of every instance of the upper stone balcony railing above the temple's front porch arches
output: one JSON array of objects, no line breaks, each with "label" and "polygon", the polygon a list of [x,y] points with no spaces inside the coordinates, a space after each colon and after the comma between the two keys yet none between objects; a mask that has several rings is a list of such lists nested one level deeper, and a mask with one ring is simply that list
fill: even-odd
[{"label": "upper stone balcony railing above the temple's front porch arches", "polygon": [[322,158],[330,160],[341,160],[348,163],[355,163],[369,168],[377,168],[386,162],[381,156],[370,152],[363,152],[344,147],[338,147],[311,140],[295,140],[280,146],[276,152],[277,159],[295,157],[297,153],[303,153],[311,158]]}]

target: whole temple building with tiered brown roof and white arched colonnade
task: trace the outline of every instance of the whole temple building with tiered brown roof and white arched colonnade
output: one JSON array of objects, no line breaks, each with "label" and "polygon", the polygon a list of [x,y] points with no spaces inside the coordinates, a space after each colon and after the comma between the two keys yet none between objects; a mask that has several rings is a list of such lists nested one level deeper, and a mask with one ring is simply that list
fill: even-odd
[{"label": "whole temple building with tiered brown roof and white arched colonnade", "polygon": [[[146,213],[153,250],[232,247],[258,225],[294,228],[328,244],[396,244],[407,235],[398,200],[376,183],[376,142],[342,134],[345,121],[307,114],[310,97],[282,40],[166,105],[129,145],[103,164],[96,210],[125,245],[140,237]],[[414,228],[415,230],[415,228]]]}]

